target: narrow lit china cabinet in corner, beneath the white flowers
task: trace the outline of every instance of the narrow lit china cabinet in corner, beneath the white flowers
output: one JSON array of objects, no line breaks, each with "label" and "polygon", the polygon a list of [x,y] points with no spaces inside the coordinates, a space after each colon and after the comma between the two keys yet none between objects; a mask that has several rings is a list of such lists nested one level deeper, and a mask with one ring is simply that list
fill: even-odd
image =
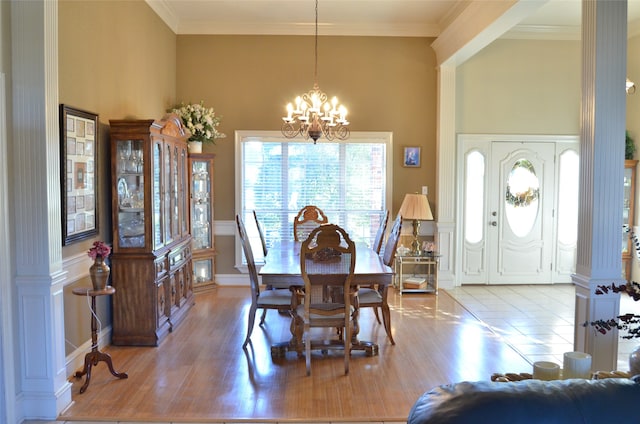
[{"label": "narrow lit china cabinet in corner, beneath the white flowers", "polygon": [[213,228],[213,153],[189,153],[191,189],[191,253],[195,291],[215,286],[216,250]]}]

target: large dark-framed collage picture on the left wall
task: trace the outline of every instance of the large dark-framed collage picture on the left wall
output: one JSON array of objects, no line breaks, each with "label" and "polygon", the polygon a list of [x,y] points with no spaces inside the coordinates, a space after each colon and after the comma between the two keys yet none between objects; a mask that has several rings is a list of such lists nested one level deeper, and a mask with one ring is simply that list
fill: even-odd
[{"label": "large dark-framed collage picture on the left wall", "polygon": [[60,105],[62,244],[98,234],[98,115]]}]

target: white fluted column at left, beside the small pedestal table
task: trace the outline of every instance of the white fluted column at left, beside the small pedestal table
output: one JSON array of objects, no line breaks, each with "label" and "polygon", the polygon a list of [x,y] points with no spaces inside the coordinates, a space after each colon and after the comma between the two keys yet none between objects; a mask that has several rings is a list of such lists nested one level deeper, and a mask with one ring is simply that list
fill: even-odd
[{"label": "white fluted column at left, beside the small pedestal table", "polygon": [[58,2],[11,3],[10,140],[18,411],[50,419],[71,402],[64,352],[58,134]]}]

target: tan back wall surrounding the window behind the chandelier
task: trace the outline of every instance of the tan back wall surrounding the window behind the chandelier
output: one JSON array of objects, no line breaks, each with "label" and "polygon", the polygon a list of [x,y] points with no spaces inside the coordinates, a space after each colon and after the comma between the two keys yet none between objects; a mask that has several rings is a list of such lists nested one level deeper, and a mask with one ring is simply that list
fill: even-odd
[{"label": "tan back wall surrounding the window behind the chandelier", "polygon": [[[429,38],[320,37],[318,83],[349,108],[352,131],[393,132],[393,205],[423,185],[435,193],[436,70]],[[215,152],[216,220],[235,214],[234,132],[279,130],[285,105],[313,86],[313,37],[178,36],[178,101],[223,115]],[[402,167],[402,147],[422,167]],[[430,196],[435,204],[437,199]],[[435,210],[435,209],[434,209]],[[217,237],[217,272],[235,273],[233,238]]]}]

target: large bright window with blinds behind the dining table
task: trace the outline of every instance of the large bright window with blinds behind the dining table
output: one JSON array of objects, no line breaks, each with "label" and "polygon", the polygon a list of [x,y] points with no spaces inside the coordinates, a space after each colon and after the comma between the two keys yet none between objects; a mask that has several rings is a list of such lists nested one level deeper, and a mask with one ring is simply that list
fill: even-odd
[{"label": "large bright window with blinds behind the dining table", "polygon": [[[252,245],[260,243],[253,210],[269,246],[293,240],[293,220],[305,205],[318,206],[354,241],[371,244],[390,204],[390,147],[391,133],[352,132],[345,141],[313,144],[279,132],[238,131],[236,210]],[[261,249],[254,252],[261,262]]]}]

